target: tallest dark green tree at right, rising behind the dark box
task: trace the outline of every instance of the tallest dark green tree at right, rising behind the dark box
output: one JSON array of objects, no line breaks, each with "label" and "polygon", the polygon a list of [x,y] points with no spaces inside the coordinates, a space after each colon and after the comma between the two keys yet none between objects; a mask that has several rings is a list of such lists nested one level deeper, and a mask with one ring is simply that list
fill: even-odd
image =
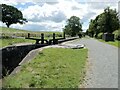
[{"label": "tallest dark green tree at right, rising behind the dark box", "polygon": [[100,32],[112,33],[119,28],[118,13],[116,10],[107,7],[104,12],[99,15],[97,20],[98,26],[100,27]]}]

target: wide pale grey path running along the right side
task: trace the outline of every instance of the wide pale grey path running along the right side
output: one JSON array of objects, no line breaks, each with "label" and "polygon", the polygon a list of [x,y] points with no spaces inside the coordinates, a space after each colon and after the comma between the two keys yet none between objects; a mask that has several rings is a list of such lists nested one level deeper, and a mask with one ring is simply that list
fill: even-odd
[{"label": "wide pale grey path running along the right side", "polygon": [[82,39],[89,49],[84,88],[118,88],[118,48],[95,39]]}]

